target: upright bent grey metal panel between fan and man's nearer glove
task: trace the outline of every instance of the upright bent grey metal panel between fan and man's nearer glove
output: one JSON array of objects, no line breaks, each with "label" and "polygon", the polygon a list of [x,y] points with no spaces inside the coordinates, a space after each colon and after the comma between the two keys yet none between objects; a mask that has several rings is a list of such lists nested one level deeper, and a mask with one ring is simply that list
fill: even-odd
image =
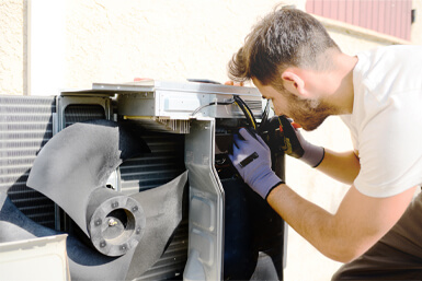
[{"label": "upright bent grey metal panel between fan and man's nearer glove", "polygon": [[185,165],[190,183],[189,259],[184,280],[220,280],[224,189],[214,167],[215,120],[192,124]]}]

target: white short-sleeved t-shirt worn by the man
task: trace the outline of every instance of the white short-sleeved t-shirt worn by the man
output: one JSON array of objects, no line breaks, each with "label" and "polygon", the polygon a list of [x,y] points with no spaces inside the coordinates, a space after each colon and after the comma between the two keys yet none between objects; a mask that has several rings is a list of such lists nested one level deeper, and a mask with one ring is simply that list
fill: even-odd
[{"label": "white short-sleeved t-shirt worn by the man", "polygon": [[389,197],[422,183],[422,46],[388,46],[357,55],[351,130],[361,172],[354,185]]}]

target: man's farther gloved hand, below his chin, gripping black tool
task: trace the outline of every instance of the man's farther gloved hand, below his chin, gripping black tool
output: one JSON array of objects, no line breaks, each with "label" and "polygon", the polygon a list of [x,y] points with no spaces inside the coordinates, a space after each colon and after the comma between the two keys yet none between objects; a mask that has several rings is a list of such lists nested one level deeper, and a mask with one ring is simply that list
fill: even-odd
[{"label": "man's farther gloved hand, below his chin, gripping black tool", "polygon": [[299,129],[292,125],[292,119],[284,116],[280,116],[278,119],[281,121],[280,130],[284,134],[284,145],[282,147],[284,152],[304,161],[311,167],[317,167],[323,160],[324,149],[305,140]]}]

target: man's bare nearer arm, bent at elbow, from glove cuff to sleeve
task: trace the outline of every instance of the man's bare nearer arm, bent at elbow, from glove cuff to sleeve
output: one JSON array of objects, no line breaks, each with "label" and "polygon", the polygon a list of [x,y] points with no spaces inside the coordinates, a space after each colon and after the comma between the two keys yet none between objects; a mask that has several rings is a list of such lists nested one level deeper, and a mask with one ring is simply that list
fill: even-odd
[{"label": "man's bare nearer arm, bent at elbow, from glove cuff to sleeve", "polygon": [[274,188],[266,200],[319,251],[331,259],[347,262],[364,254],[396,224],[415,188],[391,197],[375,198],[352,186],[335,214],[305,200],[285,184]]}]

